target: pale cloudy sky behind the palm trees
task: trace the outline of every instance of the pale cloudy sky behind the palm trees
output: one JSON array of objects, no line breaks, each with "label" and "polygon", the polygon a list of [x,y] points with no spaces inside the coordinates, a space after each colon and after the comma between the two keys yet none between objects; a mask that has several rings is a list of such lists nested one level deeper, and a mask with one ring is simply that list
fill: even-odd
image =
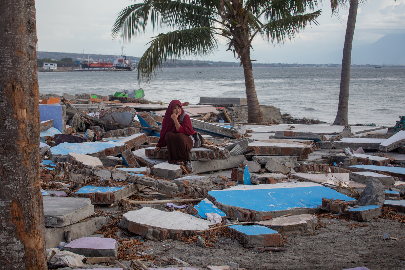
[{"label": "pale cloudy sky behind the palm trees", "polygon": [[[128,44],[111,39],[111,27],[117,13],[133,4],[130,0],[36,0],[36,23],[39,51],[85,54],[124,54],[141,57],[150,37],[159,32],[147,32]],[[136,1],[141,2],[141,1]],[[324,63],[320,55],[343,48],[348,10],[331,17],[328,0],[323,1],[318,25],[307,27],[293,43],[273,46],[261,39],[253,43],[252,59],[261,63]],[[343,22],[343,23],[342,23]],[[166,31],[162,31],[166,32]],[[405,0],[368,0],[359,6],[353,46],[373,43],[390,33],[405,32]],[[237,62],[225,41],[211,56],[202,60]]]}]

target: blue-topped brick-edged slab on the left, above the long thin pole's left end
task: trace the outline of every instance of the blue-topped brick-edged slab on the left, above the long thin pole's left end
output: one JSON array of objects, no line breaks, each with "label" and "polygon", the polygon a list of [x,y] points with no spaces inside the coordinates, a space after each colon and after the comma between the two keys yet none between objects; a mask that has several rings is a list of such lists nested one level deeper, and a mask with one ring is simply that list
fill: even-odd
[{"label": "blue-topped brick-edged slab on the left, above the long thin pole's left end", "polygon": [[114,204],[120,199],[126,198],[139,190],[136,185],[126,186],[83,186],[73,197],[89,198],[92,204]]}]

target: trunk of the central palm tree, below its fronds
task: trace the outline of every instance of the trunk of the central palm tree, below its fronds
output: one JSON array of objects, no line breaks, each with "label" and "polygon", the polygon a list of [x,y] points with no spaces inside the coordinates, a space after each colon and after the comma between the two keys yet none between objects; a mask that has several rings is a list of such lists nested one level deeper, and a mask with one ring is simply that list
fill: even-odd
[{"label": "trunk of the central palm tree, below its fronds", "polygon": [[250,50],[241,55],[243,73],[245,75],[245,87],[247,98],[247,121],[249,123],[264,123],[262,109],[257,99],[256,88],[254,86],[252,61],[250,60]]}]

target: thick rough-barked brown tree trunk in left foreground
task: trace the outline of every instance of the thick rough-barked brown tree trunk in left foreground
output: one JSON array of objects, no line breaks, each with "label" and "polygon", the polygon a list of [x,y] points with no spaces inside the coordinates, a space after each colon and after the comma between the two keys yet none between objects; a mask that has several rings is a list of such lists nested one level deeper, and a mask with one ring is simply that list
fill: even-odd
[{"label": "thick rough-barked brown tree trunk in left foreground", "polygon": [[34,0],[0,0],[0,269],[46,269]]}]

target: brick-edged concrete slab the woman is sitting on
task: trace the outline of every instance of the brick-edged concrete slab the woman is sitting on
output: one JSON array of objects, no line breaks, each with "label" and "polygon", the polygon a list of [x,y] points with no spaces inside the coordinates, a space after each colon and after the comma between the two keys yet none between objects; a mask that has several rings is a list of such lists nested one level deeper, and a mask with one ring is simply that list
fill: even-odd
[{"label": "brick-edged concrete slab the woman is sitting on", "polygon": [[[167,149],[161,149],[156,153],[153,151],[155,147],[145,148],[145,155],[151,159],[167,159]],[[208,161],[214,159],[228,159],[230,157],[229,151],[224,148],[218,148],[217,150],[211,150],[204,147],[191,148],[190,156],[188,160],[201,160]]]}]

